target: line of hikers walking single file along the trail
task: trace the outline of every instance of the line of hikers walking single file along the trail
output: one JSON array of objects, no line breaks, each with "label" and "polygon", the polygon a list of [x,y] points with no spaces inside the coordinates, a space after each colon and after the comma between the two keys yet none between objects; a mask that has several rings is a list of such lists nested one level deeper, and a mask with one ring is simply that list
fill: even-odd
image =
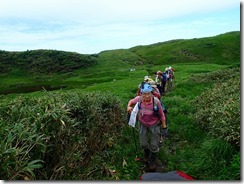
[{"label": "line of hikers walking single file along the trail", "polygon": [[172,67],[166,68],[165,72],[157,71],[155,81],[145,76],[138,86],[137,96],[127,104],[127,112],[131,114],[129,124],[134,127],[136,121],[139,122],[140,146],[144,150],[143,162],[151,171],[156,169],[157,153],[163,139],[168,135],[167,109],[161,97],[165,93],[167,81],[171,82],[168,85],[172,89],[173,72]]}]

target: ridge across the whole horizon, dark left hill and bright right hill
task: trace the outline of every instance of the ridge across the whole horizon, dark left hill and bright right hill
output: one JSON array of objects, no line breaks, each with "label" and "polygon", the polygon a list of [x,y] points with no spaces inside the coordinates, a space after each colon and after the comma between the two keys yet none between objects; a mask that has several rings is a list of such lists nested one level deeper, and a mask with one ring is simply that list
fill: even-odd
[{"label": "ridge across the whole horizon, dark left hill and bright right hill", "polygon": [[0,72],[21,69],[31,74],[68,73],[97,64],[162,65],[173,63],[207,62],[227,64],[240,59],[240,31],[217,36],[177,39],[140,45],[129,49],[106,50],[98,54],[79,54],[57,50],[0,50]]}]

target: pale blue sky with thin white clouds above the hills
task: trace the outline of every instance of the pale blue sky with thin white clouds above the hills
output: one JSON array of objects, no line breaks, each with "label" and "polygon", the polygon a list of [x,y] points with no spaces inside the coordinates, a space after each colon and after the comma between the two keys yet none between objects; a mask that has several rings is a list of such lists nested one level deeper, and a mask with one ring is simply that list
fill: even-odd
[{"label": "pale blue sky with thin white clouds above the hills", "polygon": [[237,0],[0,0],[0,50],[95,54],[240,31]]}]

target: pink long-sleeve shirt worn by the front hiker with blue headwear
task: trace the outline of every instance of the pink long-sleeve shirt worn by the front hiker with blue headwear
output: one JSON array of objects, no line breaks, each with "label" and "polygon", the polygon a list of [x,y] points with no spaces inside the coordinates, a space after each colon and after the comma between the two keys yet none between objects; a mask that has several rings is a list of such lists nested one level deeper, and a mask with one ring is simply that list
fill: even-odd
[{"label": "pink long-sleeve shirt worn by the front hiker with blue headwear", "polygon": [[[161,103],[158,99],[156,99],[156,101],[159,116],[156,116],[153,111],[153,96],[150,102],[148,102],[147,104],[143,102],[141,96],[136,96],[128,102],[128,106],[135,105],[137,102],[139,102],[140,109],[138,112],[138,119],[143,125],[150,127],[156,125],[159,121],[165,121],[165,116]],[[156,106],[156,104],[154,104],[154,106]]]}]

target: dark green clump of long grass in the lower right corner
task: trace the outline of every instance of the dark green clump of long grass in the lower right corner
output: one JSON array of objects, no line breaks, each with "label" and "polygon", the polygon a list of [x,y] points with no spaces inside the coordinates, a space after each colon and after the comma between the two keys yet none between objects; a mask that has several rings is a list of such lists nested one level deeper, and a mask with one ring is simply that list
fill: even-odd
[{"label": "dark green clump of long grass in the lower right corner", "polygon": [[192,155],[194,164],[188,172],[199,176],[199,180],[239,180],[240,160],[233,150],[221,139],[205,140]]}]

